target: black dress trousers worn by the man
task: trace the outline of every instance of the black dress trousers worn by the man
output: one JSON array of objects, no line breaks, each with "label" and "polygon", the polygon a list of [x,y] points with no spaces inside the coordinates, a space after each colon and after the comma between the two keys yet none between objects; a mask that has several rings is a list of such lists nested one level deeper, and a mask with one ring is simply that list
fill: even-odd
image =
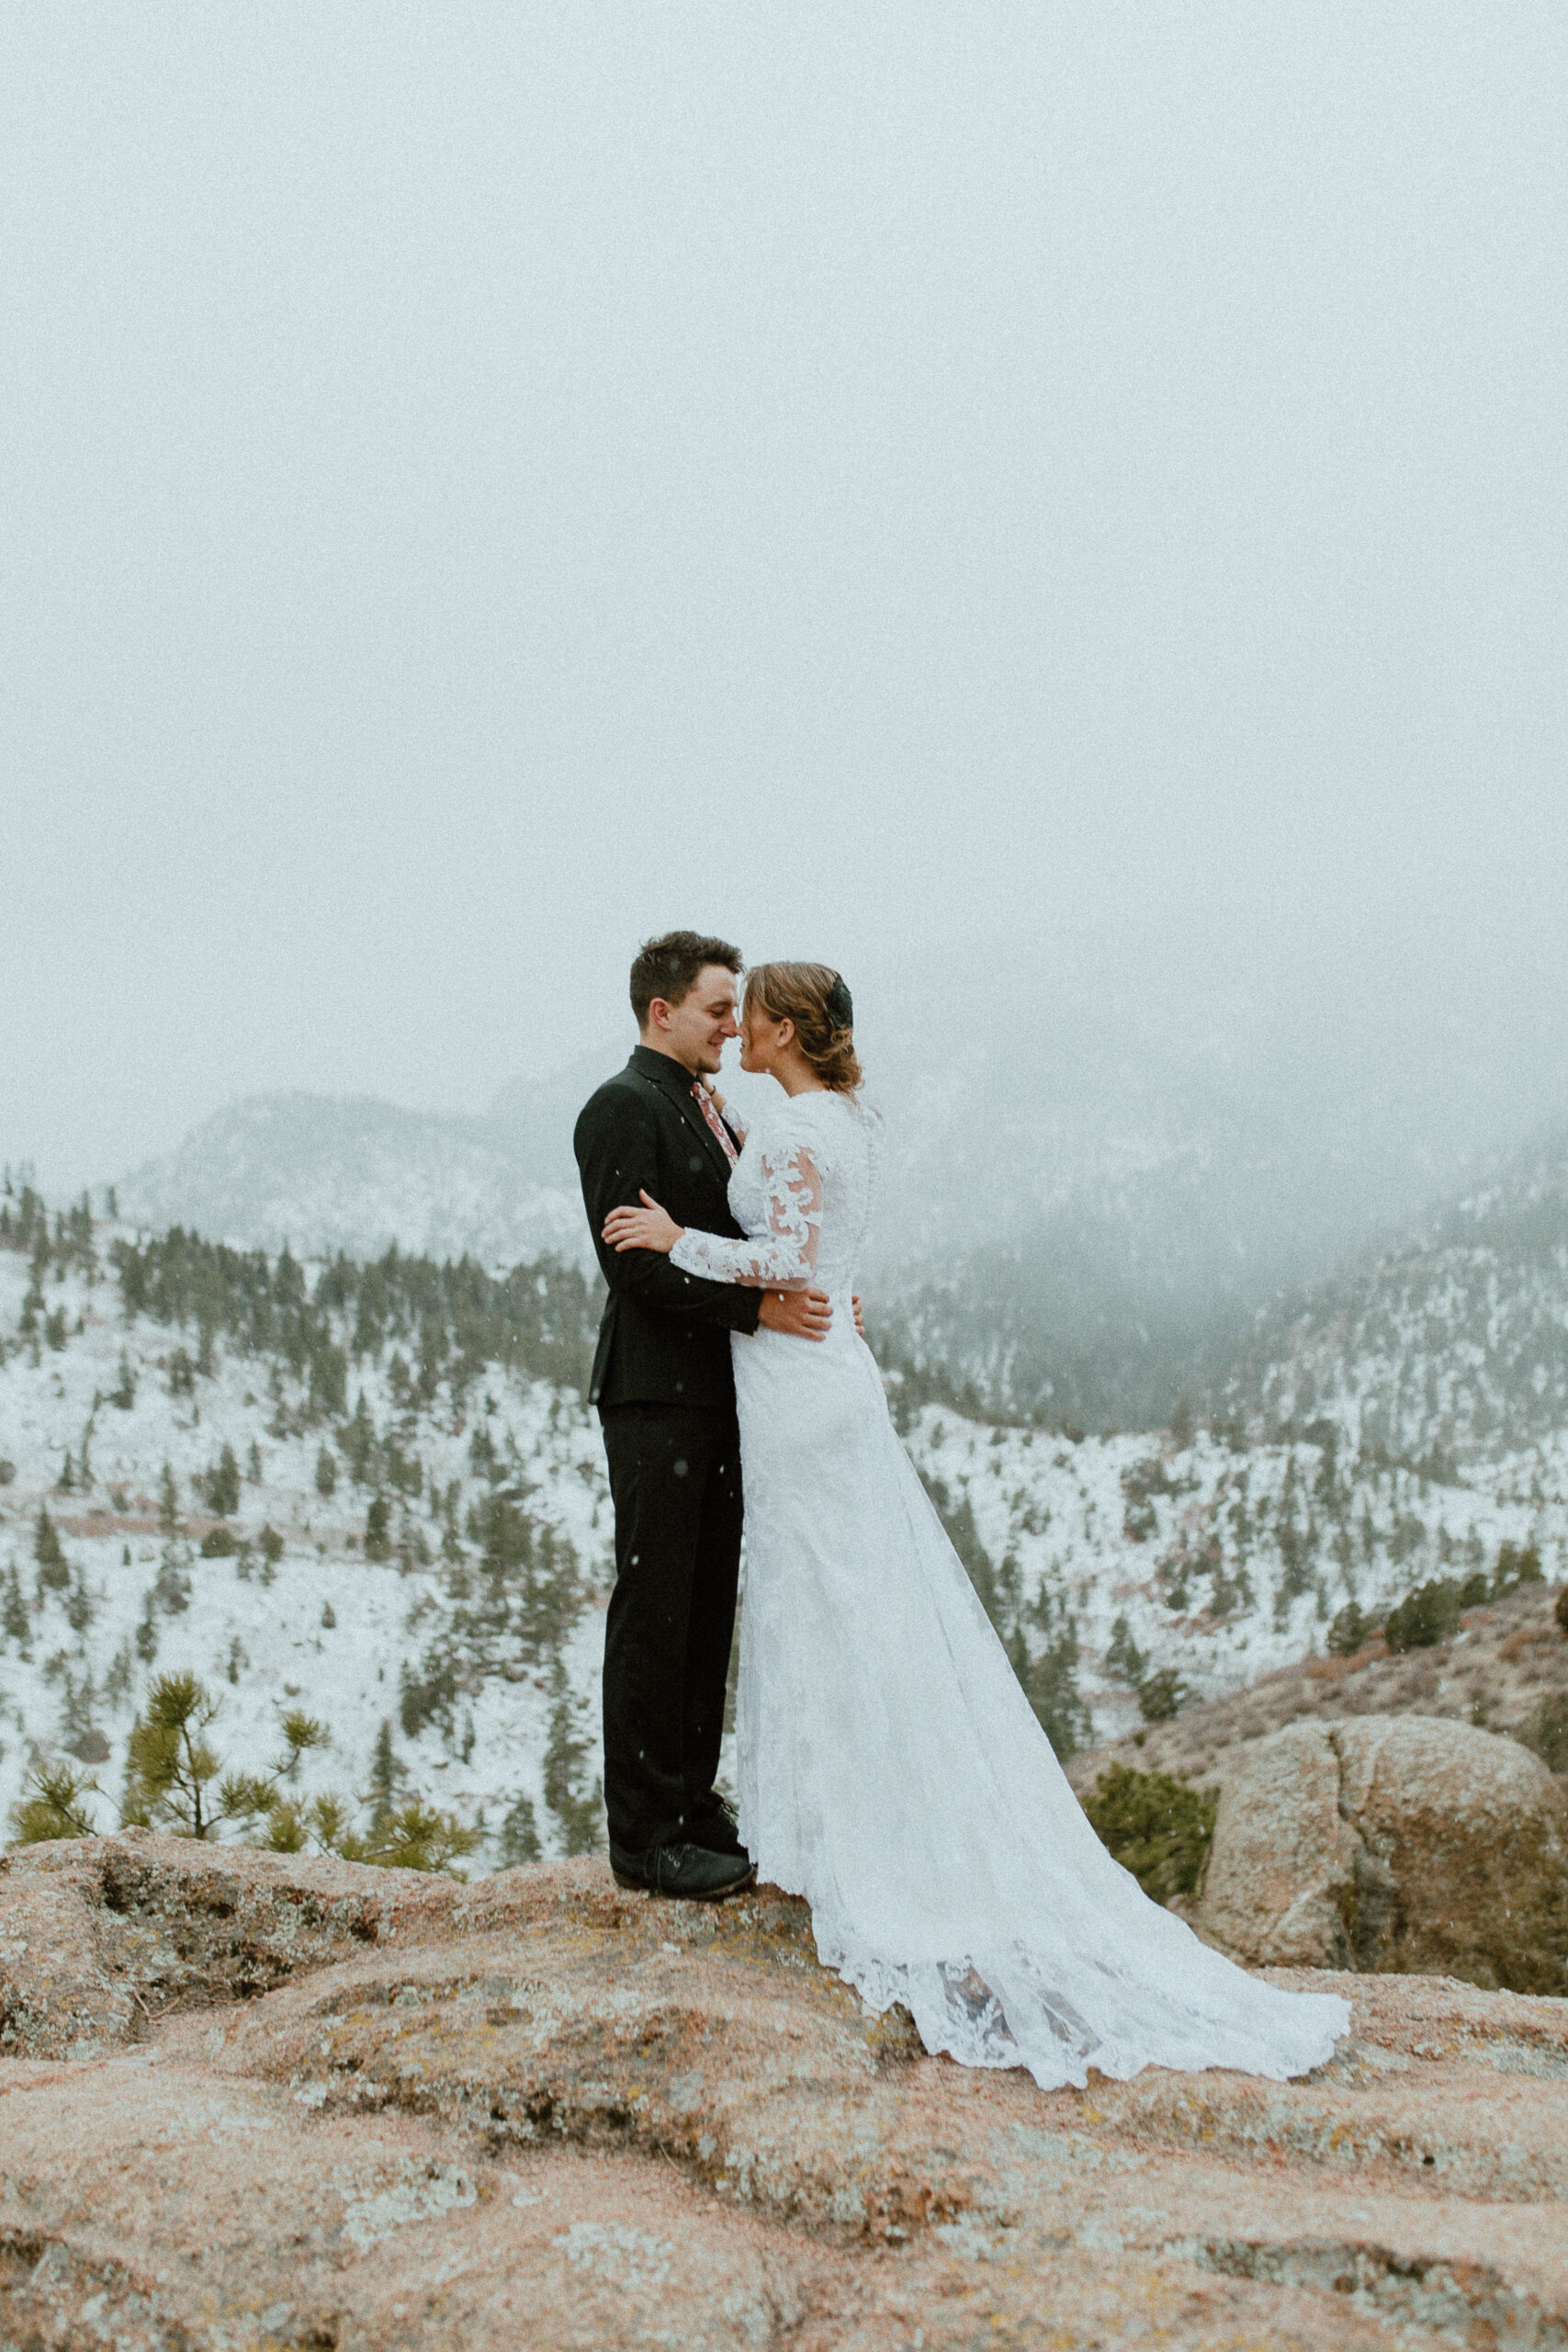
[{"label": "black dress trousers worn by the man", "polygon": [[604,1811],[628,1853],[701,1844],[724,1738],[741,1573],[741,1430],[729,1409],[599,1414],[616,1505],[604,1623]]}]

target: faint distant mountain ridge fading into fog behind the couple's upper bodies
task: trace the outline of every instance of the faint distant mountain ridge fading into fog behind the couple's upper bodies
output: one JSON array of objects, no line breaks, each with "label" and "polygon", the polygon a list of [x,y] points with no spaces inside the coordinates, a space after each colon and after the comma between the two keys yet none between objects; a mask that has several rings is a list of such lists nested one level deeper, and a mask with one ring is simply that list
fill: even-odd
[{"label": "faint distant mountain ridge fading into fog behind the couple's upper bodies", "polygon": [[[588,1268],[571,1124],[623,1054],[515,1082],[482,1117],[259,1096],[136,1169],[120,1204],[308,1256],[397,1242]],[[1159,1428],[1182,1392],[1255,1388],[1279,1298],[1300,1312],[1312,1284],[1396,1256],[1434,1200],[1481,1202],[1469,1134],[1497,1134],[1497,1075],[1446,1094],[1432,1058],[1338,1040],[1309,1063],[1260,1021],[1131,1037],[1070,1004],[976,1040],[867,1023],[865,1063],[886,1112],[863,1265],[879,1348],[933,1395],[1056,1428]],[[745,1103],[771,1082],[724,1084]],[[1537,1176],[1535,1209],[1509,1192],[1509,1214],[1552,1218],[1556,1197]]]}]

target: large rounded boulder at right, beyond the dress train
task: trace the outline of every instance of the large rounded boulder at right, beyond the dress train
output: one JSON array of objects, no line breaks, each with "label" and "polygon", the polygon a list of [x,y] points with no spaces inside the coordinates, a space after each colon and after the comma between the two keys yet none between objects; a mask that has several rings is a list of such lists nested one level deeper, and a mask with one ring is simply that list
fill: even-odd
[{"label": "large rounded boulder at right, beyond the dress train", "polygon": [[1251,1962],[1568,1992],[1561,1783],[1439,1717],[1288,1724],[1225,1759],[1199,1924]]}]

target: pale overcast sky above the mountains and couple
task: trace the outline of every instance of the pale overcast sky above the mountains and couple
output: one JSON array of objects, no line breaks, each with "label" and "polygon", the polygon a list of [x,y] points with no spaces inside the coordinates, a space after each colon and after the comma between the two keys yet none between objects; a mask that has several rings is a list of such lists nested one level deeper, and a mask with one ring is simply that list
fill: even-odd
[{"label": "pale overcast sky above the mountains and couple", "polygon": [[0,1155],[482,1108],[670,922],[959,1028],[997,957],[1556,1002],[1566,66],[1530,0],[5,9]]}]

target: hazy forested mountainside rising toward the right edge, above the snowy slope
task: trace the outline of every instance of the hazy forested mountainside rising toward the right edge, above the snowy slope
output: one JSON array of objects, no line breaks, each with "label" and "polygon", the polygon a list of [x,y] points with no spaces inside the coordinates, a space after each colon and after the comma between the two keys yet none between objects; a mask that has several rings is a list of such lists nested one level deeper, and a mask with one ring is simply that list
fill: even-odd
[{"label": "hazy forested mountainside rising toward the right edge, above the snowy slope", "polygon": [[1326,1418],[1410,1461],[1568,1425],[1568,1127],[1375,1261],[1265,1310],[1213,1383],[1253,1432]]}]

